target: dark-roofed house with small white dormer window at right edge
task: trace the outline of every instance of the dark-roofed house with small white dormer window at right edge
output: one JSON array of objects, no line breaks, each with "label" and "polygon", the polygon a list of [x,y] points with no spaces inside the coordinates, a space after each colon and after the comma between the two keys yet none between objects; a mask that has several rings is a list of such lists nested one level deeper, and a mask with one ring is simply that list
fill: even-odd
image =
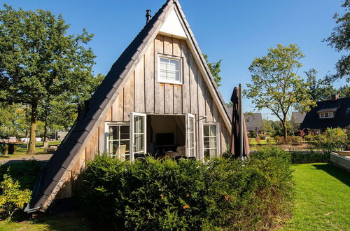
[{"label": "dark-roofed house with small white dormer window at right edge", "polygon": [[345,132],[350,128],[350,97],[339,98],[332,95],[331,100],[317,102],[309,111],[300,128],[321,134],[328,127],[341,127]]}]

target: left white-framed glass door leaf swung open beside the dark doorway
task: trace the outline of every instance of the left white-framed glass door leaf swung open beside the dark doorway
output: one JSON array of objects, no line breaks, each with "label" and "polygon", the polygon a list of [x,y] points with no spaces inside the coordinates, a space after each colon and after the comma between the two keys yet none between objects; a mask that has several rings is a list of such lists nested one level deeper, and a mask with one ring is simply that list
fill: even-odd
[{"label": "left white-framed glass door leaf swung open beside the dark doorway", "polygon": [[146,154],[146,114],[132,112],[130,114],[130,160],[135,155]]}]

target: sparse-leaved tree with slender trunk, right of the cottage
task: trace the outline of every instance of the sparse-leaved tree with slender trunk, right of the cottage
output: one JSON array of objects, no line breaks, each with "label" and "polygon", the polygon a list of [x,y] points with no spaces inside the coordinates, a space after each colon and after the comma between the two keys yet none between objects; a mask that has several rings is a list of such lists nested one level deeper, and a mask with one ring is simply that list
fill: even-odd
[{"label": "sparse-leaved tree with slender trunk, right of the cottage", "polygon": [[244,94],[253,99],[259,110],[267,108],[279,118],[283,126],[283,137],[287,141],[287,116],[292,106],[299,105],[301,111],[309,111],[315,102],[310,99],[307,83],[296,72],[304,57],[297,45],[277,44],[264,57],[256,57],[249,71],[251,83]]}]

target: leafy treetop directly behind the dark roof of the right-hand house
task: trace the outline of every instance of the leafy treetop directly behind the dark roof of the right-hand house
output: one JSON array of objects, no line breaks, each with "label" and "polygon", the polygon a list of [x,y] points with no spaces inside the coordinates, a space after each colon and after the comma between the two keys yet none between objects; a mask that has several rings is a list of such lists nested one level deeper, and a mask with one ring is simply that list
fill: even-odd
[{"label": "leafy treetop directly behind the dark roof of the right-hand house", "polygon": [[316,79],[317,71],[310,69],[304,72],[307,76],[307,83],[309,88],[309,94],[313,101],[328,100],[332,94],[336,94],[337,90],[332,86],[328,78]]}]

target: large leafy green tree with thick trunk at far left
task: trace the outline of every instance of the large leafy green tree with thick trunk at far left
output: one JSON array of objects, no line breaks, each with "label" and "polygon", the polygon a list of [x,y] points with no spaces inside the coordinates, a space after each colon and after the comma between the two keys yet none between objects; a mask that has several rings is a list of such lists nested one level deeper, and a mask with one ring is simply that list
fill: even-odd
[{"label": "large leafy green tree with thick trunk at far left", "polygon": [[45,99],[76,92],[90,82],[94,53],[85,48],[92,34],[66,35],[62,15],[49,11],[0,10],[0,100],[31,108],[28,154],[35,152],[38,110]]}]

